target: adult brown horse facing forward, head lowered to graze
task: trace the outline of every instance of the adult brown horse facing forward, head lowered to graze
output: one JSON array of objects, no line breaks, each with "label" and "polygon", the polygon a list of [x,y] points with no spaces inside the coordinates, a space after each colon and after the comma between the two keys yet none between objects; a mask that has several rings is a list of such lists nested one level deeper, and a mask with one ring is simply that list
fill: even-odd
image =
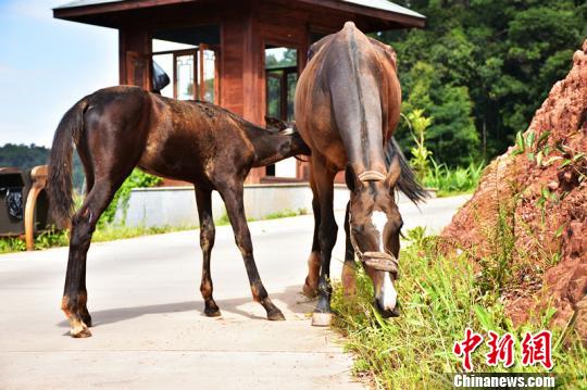
[{"label": "adult brown horse facing forward, head lowered to graze", "polygon": [[397,144],[389,141],[401,105],[396,53],[347,22],[340,32],[312,45],[309,56],[296,91],[296,125],[312,150],[315,229],[304,285],[307,294],[319,294],[312,324],[327,325],[332,317],[329,268],[338,229],[333,183],[342,169],[351,190],[345,223],[345,288],[353,290],[357,253],[373,280],[375,306],[385,316],[398,315],[394,281],[402,221],[394,190],[397,185],[414,202],[424,191]]}]

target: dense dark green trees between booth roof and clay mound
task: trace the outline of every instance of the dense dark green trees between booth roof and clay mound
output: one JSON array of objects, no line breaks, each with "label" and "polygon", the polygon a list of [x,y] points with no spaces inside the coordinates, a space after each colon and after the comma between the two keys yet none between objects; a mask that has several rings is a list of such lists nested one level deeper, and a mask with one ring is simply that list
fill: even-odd
[{"label": "dense dark green trees between booth roof and clay mound", "polygon": [[[585,1],[395,2],[426,15],[426,28],[375,37],[398,53],[403,112],[434,117],[428,148],[450,166],[502,153],[587,36]],[[398,138],[409,150],[405,127]]]}]

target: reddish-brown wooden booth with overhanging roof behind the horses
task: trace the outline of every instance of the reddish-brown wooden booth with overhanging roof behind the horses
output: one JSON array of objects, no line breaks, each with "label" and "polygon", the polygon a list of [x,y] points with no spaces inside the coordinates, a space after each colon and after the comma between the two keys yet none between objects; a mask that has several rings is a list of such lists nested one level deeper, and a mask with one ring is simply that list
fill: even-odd
[{"label": "reddish-brown wooden booth with overhanging roof behind the horses", "polygon": [[[54,17],[118,29],[120,83],[220,104],[264,126],[294,118],[310,45],[353,21],[364,33],[423,27],[425,17],[386,0],[77,0]],[[158,88],[159,89],[159,88]],[[248,183],[307,179],[294,159],[254,168]]]}]

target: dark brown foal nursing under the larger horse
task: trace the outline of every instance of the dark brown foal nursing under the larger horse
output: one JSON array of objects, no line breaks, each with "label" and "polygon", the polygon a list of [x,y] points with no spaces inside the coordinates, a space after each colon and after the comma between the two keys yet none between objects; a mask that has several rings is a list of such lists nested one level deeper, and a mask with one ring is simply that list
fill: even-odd
[{"label": "dark brown foal nursing under the larger horse", "polygon": [[[73,143],[86,173],[87,193],[82,207],[71,217]],[[86,254],[100,215],[136,166],[195,185],[203,252],[200,290],[204,313],[220,315],[210,275],[215,235],[211,194],[217,190],[245,260],[253,299],[266,310],[268,319],[284,319],[257,271],[242,190],[251,167],[296,154],[309,154],[296,133],[267,131],[210,103],[166,99],[136,87],[107,88],[79,100],[55,131],[48,189],[54,216],[63,225],[71,221],[61,306],[70,320],[71,335],[91,336],[86,306]]]}]

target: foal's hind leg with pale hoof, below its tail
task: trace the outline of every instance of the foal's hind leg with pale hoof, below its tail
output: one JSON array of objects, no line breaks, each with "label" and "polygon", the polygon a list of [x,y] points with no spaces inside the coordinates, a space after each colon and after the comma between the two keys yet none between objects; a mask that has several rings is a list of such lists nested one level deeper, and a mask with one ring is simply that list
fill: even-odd
[{"label": "foal's hind leg with pale hoof, below its tail", "polygon": [[[123,178],[124,180],[124,178]],[[120,180],[122,184],[122,180]],[[112,201],[120,187],[109,179],[98,179],[84,204],[72,218],[70,255],[61,310],[70,320],[71,335],[75,338],[90,337],[88,327],[91,316],[87,309],[86,256],[100,215]]]}]

